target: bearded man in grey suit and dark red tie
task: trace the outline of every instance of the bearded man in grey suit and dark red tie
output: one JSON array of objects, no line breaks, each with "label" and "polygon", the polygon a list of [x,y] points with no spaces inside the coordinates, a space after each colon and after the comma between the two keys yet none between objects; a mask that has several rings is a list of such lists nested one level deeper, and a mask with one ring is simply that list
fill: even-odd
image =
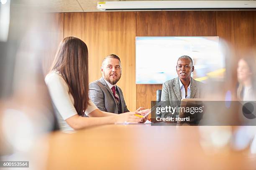
[{"label": "bearded man in grey suit and dark red tie", "polygon": [[[120,58],[115,54],[110,54],[105,57],[100,67],[102,77],[90,83],[89,97],[94,104],[102,111],[112,113],[129,112],[123,92],[116,85],[121,77],[121,62]],[[143,110],[143,107],[137,111]]]}]

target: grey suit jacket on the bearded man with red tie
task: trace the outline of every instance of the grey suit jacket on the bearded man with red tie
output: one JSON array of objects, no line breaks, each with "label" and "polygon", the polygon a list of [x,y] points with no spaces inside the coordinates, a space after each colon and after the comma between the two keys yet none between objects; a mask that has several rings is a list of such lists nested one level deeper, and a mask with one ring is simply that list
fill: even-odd
[{"label": "grey suit jacket on the bearded man with red tie", "polygon": [[[116,86],[116,91],[119,93],[122,113],[129,112],[125,104],[123,92],[120,87]],[[118,113],[118,106],[115,101],[113,92],[110,90],[103,77],[90,83],[89,97],[100,110],[105,112]]]}]

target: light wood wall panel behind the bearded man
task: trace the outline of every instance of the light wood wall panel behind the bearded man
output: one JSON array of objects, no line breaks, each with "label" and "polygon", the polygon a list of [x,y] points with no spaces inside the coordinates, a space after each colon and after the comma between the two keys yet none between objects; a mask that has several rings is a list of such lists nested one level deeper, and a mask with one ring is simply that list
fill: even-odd
[{"label": "light wood wall panel behind the bearded man", "polygon": [[64,37],[83,40],[89,50],[89,81],[101,77],[102,59],[114,53],[121,59],[118,82],[129,110],[136,110],[135,12],[65,13]]}]

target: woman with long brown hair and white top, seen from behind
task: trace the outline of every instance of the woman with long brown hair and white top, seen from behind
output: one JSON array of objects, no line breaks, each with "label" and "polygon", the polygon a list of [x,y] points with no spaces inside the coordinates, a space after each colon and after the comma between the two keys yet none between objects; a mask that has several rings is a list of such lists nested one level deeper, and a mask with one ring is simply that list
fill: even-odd
[{"label": "woman with long brown hair and white top, seen from behind", "polygon": [[[91,125],[141,122],[136,112],[120,115],[102,112],[89,99],[88,50],[77,37],[61,41],[50,72],[45,77],[61,130]],[[82,117],[82,115],[89,117]]]}]

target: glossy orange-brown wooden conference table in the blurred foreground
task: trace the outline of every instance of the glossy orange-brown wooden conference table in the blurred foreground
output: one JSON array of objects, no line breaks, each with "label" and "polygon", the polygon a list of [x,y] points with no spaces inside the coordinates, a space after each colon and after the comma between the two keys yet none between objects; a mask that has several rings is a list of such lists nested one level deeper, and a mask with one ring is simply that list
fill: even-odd
[{"label": "glossy orange-brown wooden conference table in the blurred foreground", "polygon": [[248,150],[203,144],[204,128],[209,127],[102,125],[72,134],[52,133],[47,137],[46,169],[256,169],[256,155]]}]

